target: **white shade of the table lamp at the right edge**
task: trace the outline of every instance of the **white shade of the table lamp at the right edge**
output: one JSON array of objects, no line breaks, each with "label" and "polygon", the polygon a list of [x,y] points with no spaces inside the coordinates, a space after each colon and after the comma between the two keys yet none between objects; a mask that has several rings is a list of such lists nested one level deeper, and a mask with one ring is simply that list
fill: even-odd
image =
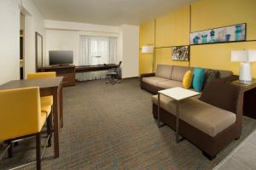
[{"label": "white shade of the table lamp at the right edge", "polygon": [[256,61],[256,50],[238,50],[231,52],[231,61],[253,62]]}]

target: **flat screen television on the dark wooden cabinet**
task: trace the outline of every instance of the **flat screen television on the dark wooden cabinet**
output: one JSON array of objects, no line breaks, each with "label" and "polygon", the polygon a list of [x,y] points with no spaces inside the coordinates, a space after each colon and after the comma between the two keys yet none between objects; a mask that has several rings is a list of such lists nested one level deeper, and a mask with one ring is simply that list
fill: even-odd
[{"label": "flat screen television on the dark wooden cabinet", "polygon": [[52,50],[49,51],[49,65],[73,64],[73,51]]}]

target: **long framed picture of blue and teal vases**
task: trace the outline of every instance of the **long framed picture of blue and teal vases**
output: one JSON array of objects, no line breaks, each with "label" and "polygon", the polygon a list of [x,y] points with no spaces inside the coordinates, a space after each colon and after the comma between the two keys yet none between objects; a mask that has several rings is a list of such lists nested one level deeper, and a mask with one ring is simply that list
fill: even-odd
[{"label": "long framed picture of blue and teal vases", "polygon": [[208,44],[246,41],[247,24],[237,24],[190,33],[190,44]]}]

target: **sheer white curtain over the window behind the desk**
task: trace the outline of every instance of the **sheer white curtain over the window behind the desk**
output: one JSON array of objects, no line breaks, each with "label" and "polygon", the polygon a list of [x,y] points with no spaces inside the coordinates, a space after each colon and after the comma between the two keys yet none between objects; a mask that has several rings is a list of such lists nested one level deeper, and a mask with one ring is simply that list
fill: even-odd
[{"label": "sheer white curtain over the window behind the desk", "polygon": [[[104,65],[117,63],[117,37],[80,36],[79,65]],[[108,71],[77,74],[79,81],[105,78]]]}]

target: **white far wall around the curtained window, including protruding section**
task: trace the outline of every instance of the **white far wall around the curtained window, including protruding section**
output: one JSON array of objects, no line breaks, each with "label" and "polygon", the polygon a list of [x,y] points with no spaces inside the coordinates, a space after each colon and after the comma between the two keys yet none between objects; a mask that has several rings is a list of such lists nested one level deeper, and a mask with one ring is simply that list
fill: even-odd
[{"label": "white far wall around the curtained window, including protruding section", "polygon": [[123,61],[122,77],[138,77],[138,26],[101,26],[44,20],[44,27],[46,29],[44,65],[49,65],[49,50],[73,50],[74,64],[78,64],[80,35],[118,37],[118,61]]}]

